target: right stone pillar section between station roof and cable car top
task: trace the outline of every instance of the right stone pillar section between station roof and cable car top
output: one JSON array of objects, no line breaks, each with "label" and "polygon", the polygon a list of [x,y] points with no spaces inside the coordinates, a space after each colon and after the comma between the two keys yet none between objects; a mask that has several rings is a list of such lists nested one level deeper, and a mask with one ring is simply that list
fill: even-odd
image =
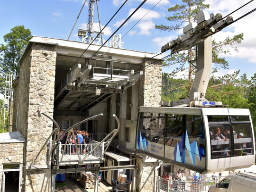
[{"label": "right stone pillar section between station roof and cable car top", "polygon": [[[155,61],[155,59],[150,59],[141,66],[144,68],[143,76],[139,79],[138,107],[159,106],[159,102],[161,101],[162,61]],[[147,66],[153,62],[155,63]]]}]

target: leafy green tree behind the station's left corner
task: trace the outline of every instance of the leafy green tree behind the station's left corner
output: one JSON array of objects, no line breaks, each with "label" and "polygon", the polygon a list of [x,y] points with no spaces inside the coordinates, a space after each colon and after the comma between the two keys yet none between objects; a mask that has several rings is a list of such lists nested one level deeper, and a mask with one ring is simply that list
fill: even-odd
[{"label": "leafy green tree behind the station's left corner", "polygon": [[14,77],[19,74],[18,60],[31,38],[30,30],[25,29],[24,25],[15,26],[10,33],[4,35],[6,45],[0,44],[0,75],[2,77],[11,72]]}]

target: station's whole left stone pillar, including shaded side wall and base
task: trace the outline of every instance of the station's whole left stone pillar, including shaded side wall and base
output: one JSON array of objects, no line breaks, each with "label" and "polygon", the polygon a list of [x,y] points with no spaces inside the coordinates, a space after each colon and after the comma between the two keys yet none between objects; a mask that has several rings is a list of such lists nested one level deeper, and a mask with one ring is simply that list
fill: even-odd
[{"label": "station's whole left stone pillar, including shaded side wall and base", "polygon": [[[18,130],[27,141],[24,151],[25,166],[29,166],[52,132],[53,123],[39,116],[37,109],[53,117],[56,45],[31,43],[20,62],[19,83],[14,88],[14,118]],[[42,107],[38,102],[43,104]],[[15,125],[15,123],[14,123]],[[42,169],[25,169],[25,192],[50,192],[50,170],[46,163],[47,148],[43,149],[34,165]]]}]

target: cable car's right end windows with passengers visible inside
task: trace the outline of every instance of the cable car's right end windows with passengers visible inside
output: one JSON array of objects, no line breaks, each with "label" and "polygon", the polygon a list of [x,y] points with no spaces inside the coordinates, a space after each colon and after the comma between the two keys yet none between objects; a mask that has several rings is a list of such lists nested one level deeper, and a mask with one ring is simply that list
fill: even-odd
[{"label": "cable car's right end windows with passengers visible inside", "polygon": [[211,159],[253,154],[249,116],[208,116]]}]

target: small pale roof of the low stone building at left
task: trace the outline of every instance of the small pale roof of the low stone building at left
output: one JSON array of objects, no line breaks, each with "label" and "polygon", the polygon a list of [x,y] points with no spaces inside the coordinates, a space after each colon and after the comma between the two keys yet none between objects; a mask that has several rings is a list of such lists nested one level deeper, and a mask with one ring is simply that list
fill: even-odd
[{"label": "small pale roof of the low stone building at left", "polygon": [[25,142],[24,137],[18,132],[7,132],[0,134],[0,143]]}]

